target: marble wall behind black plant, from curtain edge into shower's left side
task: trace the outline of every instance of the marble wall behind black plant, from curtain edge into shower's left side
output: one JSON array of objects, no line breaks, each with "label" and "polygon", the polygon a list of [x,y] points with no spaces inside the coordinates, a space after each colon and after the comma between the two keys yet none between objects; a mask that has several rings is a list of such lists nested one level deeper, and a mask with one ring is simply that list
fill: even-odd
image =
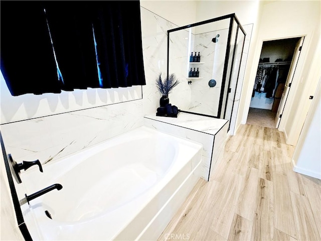
[{"label": "marble wall behind black plant, from curtain edge into shower's left side", "polygon": [[[162,97],[156,88],[155,80],[159,73],[162,73],[163,80],[167,75],[167,31],[178,26],[144,8],[141,8],[141,20],[146,76],[146,85],[143,86],[143,109],[146,114],[149,114],[156,113],[159,98]],[[186,81],[186,59],[184,59],[187,55],[188,32],[180,31],[176,34],[171,33],[170,36],[170,49],[175,51],[175,59],[170,61],[170,73],[175,73],[180,81],[179,85],[169,94],[170,103],[178,106],[179,109],[186,109],[190,95]]]}]

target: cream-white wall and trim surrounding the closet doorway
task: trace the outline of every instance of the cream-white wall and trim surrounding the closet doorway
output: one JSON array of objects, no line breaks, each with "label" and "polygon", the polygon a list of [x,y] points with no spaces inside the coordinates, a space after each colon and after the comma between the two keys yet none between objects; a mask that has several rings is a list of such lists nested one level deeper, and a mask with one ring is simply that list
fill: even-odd
[{"label": "cream-white wall and trim surrounding the closet doorway", "polygon": [[[247,82],[243,86],[241,96],[241,108],[243,113],[238,117],[237,124],[245,124],[248,108],[251,100],[252,87],[256,75],[256,67],[259,61],[260,50],[263,41],[284,39],[290,37],[305,36],[299,63],[293,78],[291,91],[288,96],[285,110],[281,119],[280,131],[288,136],[290,132],[300,130],[301,127],[292,128],[293,120],[300,115],[305,115],[302,109],[298,109],[302,101],[302,91],[310,84],[307,79],[311,71],[313,56],[315,53],[320,33],[320,2],[319,1],[266,1],[260,2],[261,13],[259,19],[259,32],[253,38],[255,45],[250,47],[252,54],[249,61],[252,68],[248,68],[245,78]],[[287,141],[288,144],[291,144]],[[296,141],[292,143],[295,145]]]}]

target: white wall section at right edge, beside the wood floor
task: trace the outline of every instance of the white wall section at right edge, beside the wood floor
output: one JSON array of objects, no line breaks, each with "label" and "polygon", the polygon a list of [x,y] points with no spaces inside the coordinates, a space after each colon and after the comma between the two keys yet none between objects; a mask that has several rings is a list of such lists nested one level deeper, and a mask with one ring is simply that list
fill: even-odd
[{"label": "white wall section at right edge, beside the wood floor", "polygon": [[318,179],[321,179],[320,92],[319,80],[292,158],[293,171]]}]

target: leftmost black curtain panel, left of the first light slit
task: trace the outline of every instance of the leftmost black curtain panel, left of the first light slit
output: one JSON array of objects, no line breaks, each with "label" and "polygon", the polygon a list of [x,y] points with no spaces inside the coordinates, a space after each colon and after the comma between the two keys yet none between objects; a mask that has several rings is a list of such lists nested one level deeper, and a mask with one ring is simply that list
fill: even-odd
[{"label": "leftmost black curtain panel, left of the first light slit", "polygon": [[12,95],[60,93],[41,2],[0,2],[1,71]]}]

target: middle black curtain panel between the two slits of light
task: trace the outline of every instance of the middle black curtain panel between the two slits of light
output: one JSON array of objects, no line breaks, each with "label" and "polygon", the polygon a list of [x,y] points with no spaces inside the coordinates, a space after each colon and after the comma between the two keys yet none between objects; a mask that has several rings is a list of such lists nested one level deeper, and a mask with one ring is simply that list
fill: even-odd
[{"label": "middle black curtain panel between the two slits of light", "polygon": [[92,8],[94,4],[88,2],[46,3],[46,16],[63,78],[63,90],[99,87]]}]

